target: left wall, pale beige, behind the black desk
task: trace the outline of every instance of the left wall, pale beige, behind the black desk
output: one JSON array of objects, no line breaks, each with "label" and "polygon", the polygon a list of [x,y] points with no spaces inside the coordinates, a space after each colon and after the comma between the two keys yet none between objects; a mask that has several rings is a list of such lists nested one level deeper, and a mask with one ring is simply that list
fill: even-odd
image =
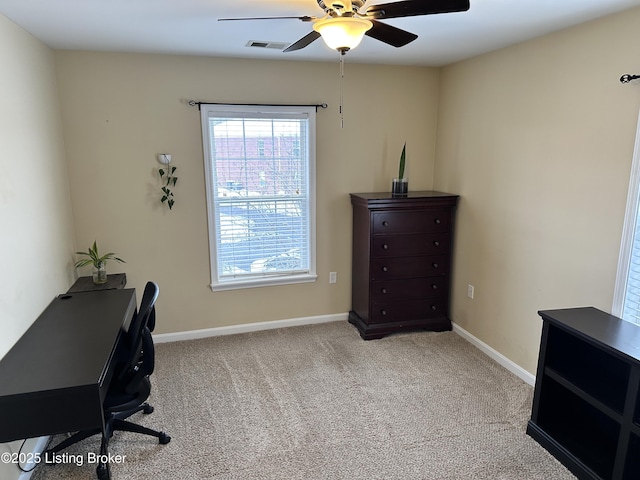
[{"label": "left wall, pale beige, behind the black desk", "polygon": [[53,54],[2,15],[0,70],[1,358],[69,287],[75,232]]}]

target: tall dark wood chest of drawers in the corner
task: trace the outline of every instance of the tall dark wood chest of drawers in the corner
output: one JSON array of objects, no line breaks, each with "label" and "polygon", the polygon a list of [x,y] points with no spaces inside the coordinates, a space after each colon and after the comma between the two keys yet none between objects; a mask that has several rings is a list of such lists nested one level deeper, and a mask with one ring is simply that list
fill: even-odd
[{"label": "tall dark wood chest of drawers in the corner", "polygon": [[449,289],[458,196],[352,193],[349,322],[365,340],[401,330],[451,330]]}]

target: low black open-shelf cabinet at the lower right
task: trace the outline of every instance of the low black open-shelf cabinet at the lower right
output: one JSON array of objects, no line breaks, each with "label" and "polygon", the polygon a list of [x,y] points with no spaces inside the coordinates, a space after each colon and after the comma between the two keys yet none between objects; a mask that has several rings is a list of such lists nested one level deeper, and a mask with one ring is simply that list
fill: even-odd
[{"label": "low black open-shelf cabinet at the lower right", "polygon": [[546,310],[527,433],[581,479],[640,478],[640,327]]}]

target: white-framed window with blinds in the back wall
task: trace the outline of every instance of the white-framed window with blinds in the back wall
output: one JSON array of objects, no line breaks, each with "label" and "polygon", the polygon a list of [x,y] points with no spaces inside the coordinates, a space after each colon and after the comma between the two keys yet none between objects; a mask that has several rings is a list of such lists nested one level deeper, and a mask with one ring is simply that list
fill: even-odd
[{"label": "white-framed window with blinds in the back wall", "polygon": [[213,290],[315,281],[315,114],[201,105]]}]

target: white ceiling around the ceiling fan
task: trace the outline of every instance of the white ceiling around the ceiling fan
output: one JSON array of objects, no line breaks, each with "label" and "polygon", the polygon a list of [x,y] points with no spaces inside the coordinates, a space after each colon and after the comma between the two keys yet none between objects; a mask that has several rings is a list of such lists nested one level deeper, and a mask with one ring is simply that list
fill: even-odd
[{"label": "white ceiling around the ceiling fan", "polygon": [[[367,5],[391,1],[368,0]],[[419,38],[394,48],[365,37],[347,53],[347,61],[441,66],[640,5],[640,0],[470,1],[468,12],[386,20]],[[247,16],[321,17],[316,0],[0,0],[0,13],[56,49],[311,61],[338,58],[320,39],[290,53],[246,46],[252,40],[295,42],[311,31],[310,23],[297,19],[217,21]]]}]

